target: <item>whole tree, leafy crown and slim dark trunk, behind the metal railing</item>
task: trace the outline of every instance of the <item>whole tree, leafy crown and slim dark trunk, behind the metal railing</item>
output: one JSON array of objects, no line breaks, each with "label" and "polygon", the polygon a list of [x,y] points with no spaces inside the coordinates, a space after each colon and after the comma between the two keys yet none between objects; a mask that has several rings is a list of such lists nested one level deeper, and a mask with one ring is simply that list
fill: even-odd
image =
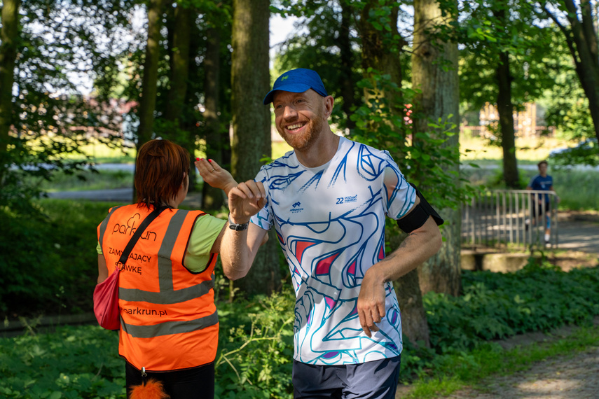
[{"label": "whole tree, leafy crown and slim dark trunk, behind the metal railing", "polygon": [[504,181],[507,187],[520,188],[513,114],[524,102],[540,97],[550,84],[542,72],[544,35],[525,2],[463,4],[462,22],[455,32],[456,40],[465,45],[460,91],[477,112],[485,102],[496,100],[499,128],[495,141],[502,146]]}]

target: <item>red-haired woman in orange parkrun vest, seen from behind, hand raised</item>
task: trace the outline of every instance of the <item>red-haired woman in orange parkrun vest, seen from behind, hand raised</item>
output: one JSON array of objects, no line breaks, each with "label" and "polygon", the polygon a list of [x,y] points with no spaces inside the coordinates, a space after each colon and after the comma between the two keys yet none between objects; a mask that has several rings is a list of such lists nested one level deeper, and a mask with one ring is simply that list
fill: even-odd
[{"label": "red-haired woman in orange parkrun vest, seen from behind, hand raised", "polygon": [[[252,195],[256,186],[237,186],[213,161],[198,160],[196,167],[211,186],[237,193],[229,202],[233,219],[249,219],[254,209],[260,209],[261,193]],[[140,389],[154,388],[163,391],[165,398],[214,397],[219,332],[214,265],[223,237],[241,236],[226,232],[224,220],[178,209],[188,186],[188,152],[171,141],[151,140],[137,154],[137,204],[111,208],[97,229],[98,283],[115,267],[120,269],[118,353],[125,358],[128,398],[139,398]],[[157,208],[162,211],[121,263],[132,235]],[[223,258],[227,276],[242,276],[240,267],[245,267],[244,262],[235,255]]]}]

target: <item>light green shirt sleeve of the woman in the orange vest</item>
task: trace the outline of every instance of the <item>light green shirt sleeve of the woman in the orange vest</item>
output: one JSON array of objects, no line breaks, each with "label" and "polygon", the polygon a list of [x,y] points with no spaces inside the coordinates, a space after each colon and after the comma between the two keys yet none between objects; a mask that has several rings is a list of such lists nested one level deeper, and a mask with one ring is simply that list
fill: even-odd
[{"label": "light green shirt sleeve of the woman in the orange vest", "polygon": [[211,215],[200,216],[191,230],[183,263],[190,272],[203,272],[210,260],[210,249],[226,221]]}]

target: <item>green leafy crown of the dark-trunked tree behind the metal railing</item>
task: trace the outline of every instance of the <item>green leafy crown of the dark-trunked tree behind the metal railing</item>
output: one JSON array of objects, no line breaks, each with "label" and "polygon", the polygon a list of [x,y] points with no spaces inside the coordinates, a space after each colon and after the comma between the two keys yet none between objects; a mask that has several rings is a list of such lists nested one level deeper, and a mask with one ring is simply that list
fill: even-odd
[{"label": "green leafy crown of the dark-trunked tree behind the metal railing", "polygon": [[[460,60],[460,98],[467,111],[481,109],[497,99],[495,71],[500,52],[509,54],[511,101],[516,109],[542,97],[553,80],[547,75],[551,58],[546,49],[554,34],[535,25],[526,2],[466,1],[461,10],[457,40],[464,45]],[[501,137],[500,133],[497,137]]]}]

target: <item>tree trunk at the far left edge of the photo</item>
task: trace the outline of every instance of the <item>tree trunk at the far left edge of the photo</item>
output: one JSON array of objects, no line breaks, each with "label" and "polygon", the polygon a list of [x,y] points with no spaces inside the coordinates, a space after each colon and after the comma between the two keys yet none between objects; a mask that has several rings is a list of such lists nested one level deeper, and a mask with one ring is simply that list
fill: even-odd
[{"label": "tree trunk at the far left edge of the photo", "polygon": [[4,0],[0,44],[0,185],[7,163],[8,133],[13,124],[13,83],[19,41],[20,0]]}]

